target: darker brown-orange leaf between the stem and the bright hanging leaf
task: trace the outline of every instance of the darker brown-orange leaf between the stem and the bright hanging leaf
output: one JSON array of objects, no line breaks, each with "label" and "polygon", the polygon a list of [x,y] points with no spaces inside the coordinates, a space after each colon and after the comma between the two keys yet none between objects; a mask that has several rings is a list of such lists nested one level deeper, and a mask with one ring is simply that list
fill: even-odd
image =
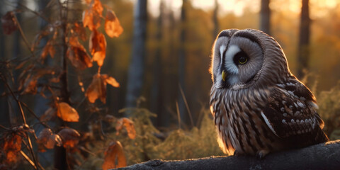
[{"label": "darker brown-orange leaf between the stem and the bright hanging leaf", "polygon": [[87,54],[85,47],[81,45],[77,37],[69,38],[69,45],[66,55],[74,67],[77,69],[92,67],[91,57]]}]

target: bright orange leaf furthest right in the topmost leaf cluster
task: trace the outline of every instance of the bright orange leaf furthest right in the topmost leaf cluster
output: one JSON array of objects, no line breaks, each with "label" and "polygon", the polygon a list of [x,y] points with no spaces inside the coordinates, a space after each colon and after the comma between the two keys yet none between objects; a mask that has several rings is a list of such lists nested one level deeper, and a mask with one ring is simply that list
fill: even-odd
[{"label": "bright orange leaf furthest right in the topmost leaf cluster", "polygon": [[123,33],[123,28],[120,26],[117,16],[111,10],[106,12],[105,32],[111,38],[119,37]]}]

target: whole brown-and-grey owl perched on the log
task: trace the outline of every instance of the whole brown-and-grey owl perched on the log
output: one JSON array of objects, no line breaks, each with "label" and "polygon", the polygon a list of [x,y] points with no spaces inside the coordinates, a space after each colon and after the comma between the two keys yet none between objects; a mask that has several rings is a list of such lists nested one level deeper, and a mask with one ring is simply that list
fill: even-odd
[{"label": "whole brown-and-grey owl perched on the log", "polygon": [[328,141],[316,98],[266,33],[223,30],[212,47],[210,73],[210,111],[223,152],[262,158]]}]

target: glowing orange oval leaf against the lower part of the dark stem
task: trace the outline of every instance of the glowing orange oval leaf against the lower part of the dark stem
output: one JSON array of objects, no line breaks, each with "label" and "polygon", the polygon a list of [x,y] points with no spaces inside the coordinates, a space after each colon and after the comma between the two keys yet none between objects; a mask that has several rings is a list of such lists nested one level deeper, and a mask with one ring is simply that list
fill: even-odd
[{"label": "glowing orange oval leaf against the lower part of the dark stem", "polygon": [[66,122],[79,121],[79,114],[76,109],[72,108],[68,103],[65,102],[57,104],[57,116]]}]

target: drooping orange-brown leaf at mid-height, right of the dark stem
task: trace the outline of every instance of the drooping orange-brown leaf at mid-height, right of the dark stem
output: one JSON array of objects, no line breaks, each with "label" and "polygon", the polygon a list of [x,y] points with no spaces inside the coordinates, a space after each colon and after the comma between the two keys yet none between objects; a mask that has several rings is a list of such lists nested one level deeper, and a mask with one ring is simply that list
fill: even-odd
[{"label": "drooping orange-brown leaf at mid-height, right of the dark stem", "polygon": [[101,102],[106,103],[106,84],[101,79],[101,74],[94,75],[91,84],[86,89],[85,96],[89,99],[90,103],[94,103],[97,98],[100,98]]}]

